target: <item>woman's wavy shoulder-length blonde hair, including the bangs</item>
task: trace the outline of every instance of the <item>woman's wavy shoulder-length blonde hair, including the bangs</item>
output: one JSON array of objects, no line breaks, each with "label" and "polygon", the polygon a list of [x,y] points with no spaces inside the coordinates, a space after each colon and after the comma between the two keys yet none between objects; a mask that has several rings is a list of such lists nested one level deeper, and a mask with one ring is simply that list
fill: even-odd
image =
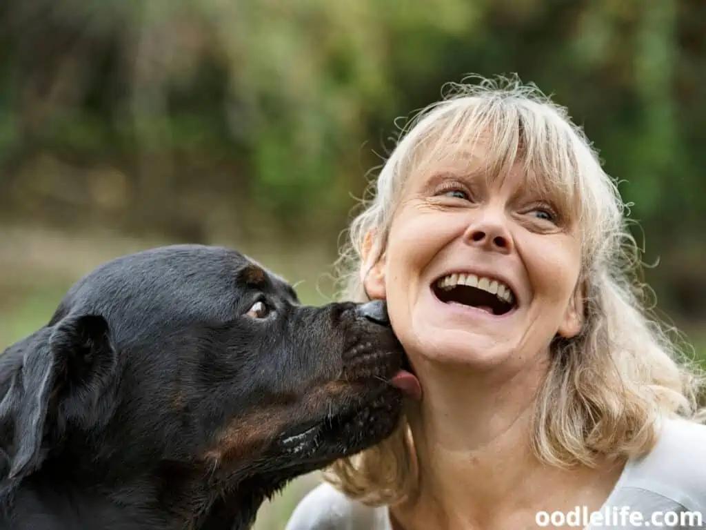
[{"label": "woman's wavy shoulder-length blonde hair, including the bangs", "polygon": [[[367,300],[361,283],[364,247],[375,242],[369,263],[384,251],[409,175],[422,165],[453,161],[459,146],[467,148],[482,134],[490,146],[486,172],[501,175],[503,168],[522,163],[529,184],[562,201],[582,233],[584,328],[572,340],[552,345],[532,425],[537,457],[552,466],[593,466],[600,456],[648,452],[659,418],[701,420],[700,372],[650,317],[626,205],[566,109],[516,76],[448,88],[401,129],[371,198],[352,220],[337,262],[344,284],[340,297]],[[412,493],[416,480],[407,420],[403,417],[387,440],[335,462],[325,479],[369,505],[392,504]]]}]

